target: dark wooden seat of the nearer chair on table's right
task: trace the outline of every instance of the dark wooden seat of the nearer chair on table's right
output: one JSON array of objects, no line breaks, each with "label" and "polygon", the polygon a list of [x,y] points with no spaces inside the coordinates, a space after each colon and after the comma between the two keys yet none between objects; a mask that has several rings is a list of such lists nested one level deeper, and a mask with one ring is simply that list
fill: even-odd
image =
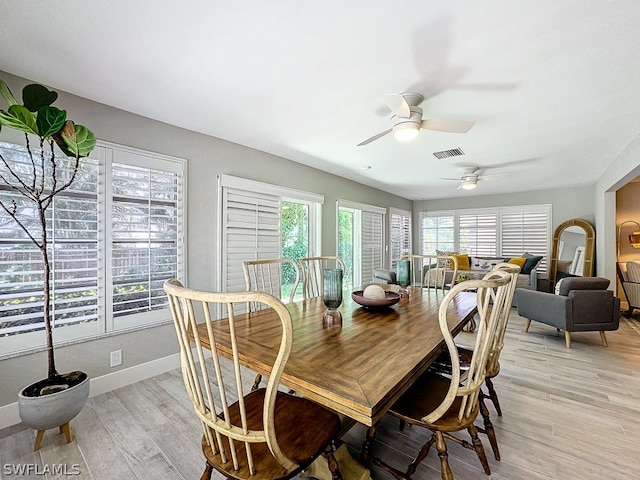
[{"label": "dark wooden seat of the nearer chair on table's right", "polygon": [[427,370],[402,397],[390,409],[390,413],[413,425],[425,428],[437,427],[441,432],[457,432],[467,427],[477,416],[478,406],[474,407],[469,420],[460,421],[460,403],[462,397],[456,397],[447,412],[433,423],[423,422],[420,419],[435,410],[443,401],[451,385],[451,380]]}]

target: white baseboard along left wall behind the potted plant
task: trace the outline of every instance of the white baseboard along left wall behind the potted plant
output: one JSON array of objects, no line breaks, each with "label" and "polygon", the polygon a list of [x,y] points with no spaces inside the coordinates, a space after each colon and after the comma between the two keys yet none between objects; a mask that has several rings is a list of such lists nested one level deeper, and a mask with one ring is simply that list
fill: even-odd
[{"label": "white baseboard along left wall behind the potted plant", "polygon": [[[90,379],[89,397],[102,395],[120,387],[140,382],[155,375],[168,372],[180,367],[180,354],[175,353],[167,357],[158,358],[150,362],[141,363],[117,372],[107,373],[101,377]],[[0,406],[0,430],[20,423],[18,402]]]}]

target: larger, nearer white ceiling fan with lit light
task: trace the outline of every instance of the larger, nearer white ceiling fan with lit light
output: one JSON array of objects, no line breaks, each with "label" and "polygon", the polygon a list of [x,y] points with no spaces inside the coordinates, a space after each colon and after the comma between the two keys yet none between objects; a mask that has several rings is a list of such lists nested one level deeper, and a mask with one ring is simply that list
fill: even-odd
[{"label": "larger, nearer white ceiling fan with lit light", "polygon": [[417,137],[421,128],[438,132],[466,133],[474,124],[474,122],[467,120],[447,120],[444,118],[423,120],[422,108],[418,105],[424,101],[424,96],[419,93],[388,94],[383,95],[383,97],[389,110],[391,110],[391,123],[393,126],[360,142],[357,145],[358,147],[367,145],[391,132],[393,132],[393,136],[397,140],[408,141]]}]

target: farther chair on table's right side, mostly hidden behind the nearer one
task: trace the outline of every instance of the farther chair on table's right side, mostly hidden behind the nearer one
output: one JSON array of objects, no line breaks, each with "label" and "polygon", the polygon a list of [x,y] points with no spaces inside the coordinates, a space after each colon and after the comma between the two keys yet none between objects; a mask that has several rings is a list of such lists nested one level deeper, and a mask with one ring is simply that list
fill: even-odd
[{"label": "farther chair on table's right side, mostly hidden behind the nearer one", "polygon": [[[509,283],[509,289],[507,291],[507,303],[502,306],[502,311],[499,313],[498,327],[496,329],[496,335],[493,338],[491,350],[489,352],[489,360],[487,362],[487,371],[485,374],[485,385],[488,393],[485,394],[483,390],[480,390],[480,415],[484,421],[484,427],[478,428],[478,431],[487,435],[489,443],[491,444],[491,450],[496,460],[500,460],[500,449],[498,448],[498,441],[496,439],[495,430],[491,417],[489,415],[489,409],[486,406],[485,400],[489,398],[498,412],[498,416],[502,416],[502,409],[500,408],[500,402],[498,401],[498,394],[493,386],[492,379],[500,373],[500,353],[504,347],[504,336],[507,331],[507,324],[509,322],[509,315],[511,313],[511,304],[513,296],[517,287],[517,279],[520,274],[520,267],[512,263],[499,263],[490,272],[485,274],[484,280],[491,280],[496,277],[495,272],[506,272],[511,277]],[[473,356],[473,350],[469,347],[456,344],[458,348],[459,361],[460,361],[460,375],[464,377],[469,370],[471,358]],[[451,359],[448,352],[443,352],[429,367],[431,371],[451,375]]]}]

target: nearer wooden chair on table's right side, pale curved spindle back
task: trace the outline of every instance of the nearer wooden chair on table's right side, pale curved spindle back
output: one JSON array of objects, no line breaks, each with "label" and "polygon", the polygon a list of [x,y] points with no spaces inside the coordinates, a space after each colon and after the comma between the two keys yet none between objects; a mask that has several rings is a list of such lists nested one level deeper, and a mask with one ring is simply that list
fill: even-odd
[{"label": "nearer wooden chair on table's right side, pale curved spindle back", "polygon": [[[491,346],[500,323],[500,315],[504,305],[507,304],[511,283],[511,276],[506,272],[496,272],[494,277],[492,280],[469,280],[454,285],[440,304],[440,330],[452,359],[451,375],[445,377],[427,370],[411,384],[389,410],[391,415],[402,422],[427,428],[431,430],[432,435],[405,471],[392,467],[380,458],[372,458],[374,464],[381,466],[396,478],[402,480],[410,478],[435,444],[440,457],[442,478],[453,480],[446,440],[474,450],[485,473],[487,475],[491,473],[474,421],[480,408],[480,389],[485,379]],[[465,375],[461,375],[458,348],[449,332],[448,317],[449,312],[455,311],[456,297],[469,289],[477,289],[480,322],[469,369]],[[462,430],[468,431],[471,443],[453,435]],[[375,432],[376,426],[369,428],[367,432],[369,444],[374,441]]]}]

